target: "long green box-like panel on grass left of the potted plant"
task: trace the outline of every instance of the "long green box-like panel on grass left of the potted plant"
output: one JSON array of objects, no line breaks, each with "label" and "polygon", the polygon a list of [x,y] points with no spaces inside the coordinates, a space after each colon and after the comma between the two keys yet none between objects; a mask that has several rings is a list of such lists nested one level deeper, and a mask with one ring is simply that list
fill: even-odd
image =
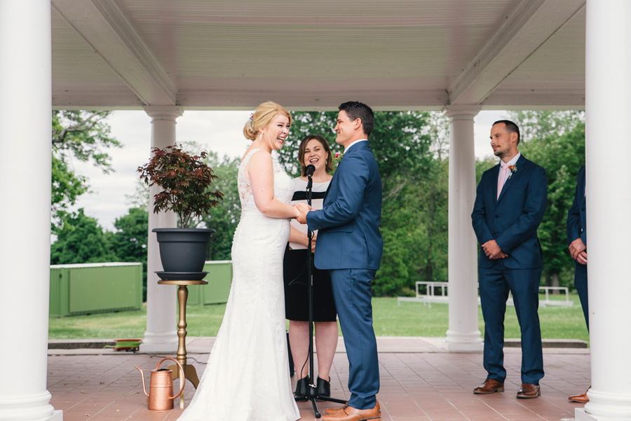
[{"label": "long green box-like panel on grass left of the potted plant", "polygon": [[50,266],[50,316],[142,308],[142,263]]}]

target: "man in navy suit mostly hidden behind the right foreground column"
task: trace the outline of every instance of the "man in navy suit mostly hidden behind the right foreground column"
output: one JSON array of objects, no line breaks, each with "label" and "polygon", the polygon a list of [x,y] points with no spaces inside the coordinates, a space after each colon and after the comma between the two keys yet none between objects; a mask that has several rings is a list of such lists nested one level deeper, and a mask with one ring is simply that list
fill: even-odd
[{"label": "man in navy suit mostly hidden behind the right foreground column", "polygon": [[[585,324],[590,330],[587,287],[587,195],[585,195],[585,166],[578,170],[574,202],[567,212],[567,244],[574,258],[574,287],[581,299]],[[589,389],[588,389],[589,392]],[[570,401],[588,403],[587,392],[576,394],[568,398]]]}]

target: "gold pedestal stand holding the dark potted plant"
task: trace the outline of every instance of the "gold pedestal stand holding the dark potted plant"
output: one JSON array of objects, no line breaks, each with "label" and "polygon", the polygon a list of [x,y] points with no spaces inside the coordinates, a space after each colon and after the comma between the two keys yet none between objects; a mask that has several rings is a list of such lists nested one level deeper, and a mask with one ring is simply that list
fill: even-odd
[{"label": "gold pedestal stand holding the dark potted plant", "polygon": [[[186,299],[189,298],[189,290],[186,288],[189,285],[206,285],[208,281],[172,281],[161,279],[158,281],[161,285],[177,285],[177,303],[179,305],[179,320],[177,322],[177,362],[182,364],[184,368],[184,378],[179,379],[180,382],[185,382],[189,379],[193,386],[197,389],[199,385],[199,378],[194,366],[186,365]],[[168,367],[173,371],[173,379],[179,378],[179,368],[174,364]],[[184,408],[184,394],[179,395],[179,408]]]}]

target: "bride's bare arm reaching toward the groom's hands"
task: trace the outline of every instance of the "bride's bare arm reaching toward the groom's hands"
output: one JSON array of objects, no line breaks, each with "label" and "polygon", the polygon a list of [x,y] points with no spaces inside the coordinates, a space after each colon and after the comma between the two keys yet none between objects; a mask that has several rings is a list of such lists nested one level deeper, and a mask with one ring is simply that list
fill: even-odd
[{"label": "bride's bare arm reaching toward the groom's hands", "polygon": [[274,170],[269,153],[259,151],[252,155],[245,172],[252,181],[252,195],[262,214],[271,218],[295,218],[300,214],[296,207],[274,198]]}]

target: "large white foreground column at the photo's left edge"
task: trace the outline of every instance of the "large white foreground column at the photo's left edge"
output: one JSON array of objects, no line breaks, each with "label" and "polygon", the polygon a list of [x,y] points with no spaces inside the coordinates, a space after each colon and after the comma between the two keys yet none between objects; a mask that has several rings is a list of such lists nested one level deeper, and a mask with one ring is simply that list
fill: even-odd
[{"label": "large white foreground column at the photo's left edge", "polygon": [[46,390],[50,0],[0,1],[0,420],[62,420]]}]

